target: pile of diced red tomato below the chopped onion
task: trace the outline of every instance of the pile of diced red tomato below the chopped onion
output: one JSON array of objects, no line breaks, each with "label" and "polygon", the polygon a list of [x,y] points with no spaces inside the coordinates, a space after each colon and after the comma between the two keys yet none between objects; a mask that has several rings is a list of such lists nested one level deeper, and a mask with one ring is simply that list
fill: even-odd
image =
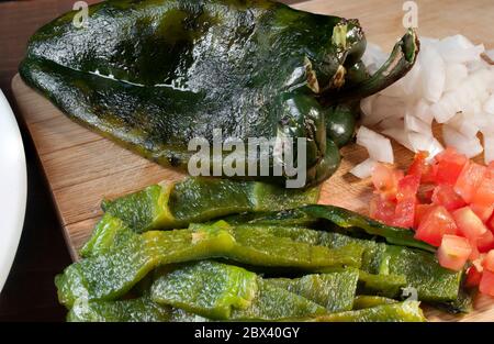
[{"label": "pile of diced red tomato below the chopped onion", "polygon": [[494,163],[470,160],[447,148],[428,162],[416,154],[408,170],[377,164],[371,218],[415,230],[439,247],[439,264],[461,270],[471,262],[467,285],[494,296]]}]

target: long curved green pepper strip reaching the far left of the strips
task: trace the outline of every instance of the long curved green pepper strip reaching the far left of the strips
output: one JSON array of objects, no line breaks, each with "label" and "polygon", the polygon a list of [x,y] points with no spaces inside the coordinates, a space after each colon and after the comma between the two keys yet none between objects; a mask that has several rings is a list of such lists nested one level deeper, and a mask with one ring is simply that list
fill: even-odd
[{"label": "long curved green pepper strip reaching the far left of the strips", "polygon": [[224,221],[133,234],[122,245],[75,263],[57,276],[59,301],[71,307],[79,298],[115,300],[155,267],[173,263],[224,257],[255,266],[318,271],[359,267],[362,255],[357,245],[332,249],[270,235],[262,229],[233,228]]}]

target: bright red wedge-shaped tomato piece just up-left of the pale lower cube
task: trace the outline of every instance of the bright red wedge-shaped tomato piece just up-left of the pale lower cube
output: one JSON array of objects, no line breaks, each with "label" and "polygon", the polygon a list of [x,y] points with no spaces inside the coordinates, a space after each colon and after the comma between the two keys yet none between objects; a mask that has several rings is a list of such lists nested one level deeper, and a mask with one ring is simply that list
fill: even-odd
[{"label": "bright red wedge-shaped tomato piece just up-left of the pale lower cube", "polygon": [[448,210],[442,206],[435,206],[419,222],[415,232],[415,238],[439,246],[442,235],[456,235],[457,231],[458,228]]}]

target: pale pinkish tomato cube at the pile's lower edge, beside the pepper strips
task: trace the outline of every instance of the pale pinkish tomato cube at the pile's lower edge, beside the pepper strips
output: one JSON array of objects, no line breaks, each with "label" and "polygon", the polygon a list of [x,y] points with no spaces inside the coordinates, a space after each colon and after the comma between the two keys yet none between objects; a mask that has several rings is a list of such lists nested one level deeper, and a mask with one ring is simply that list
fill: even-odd
[{"label": "pale pinkish tomato cube at the pile's lower edge, beside the pepper strips", "polygon": [[464,267],[471,253],[472,247],[467,238],[446,234],[437,251],[437,258],[442,267],[459,271]]}]

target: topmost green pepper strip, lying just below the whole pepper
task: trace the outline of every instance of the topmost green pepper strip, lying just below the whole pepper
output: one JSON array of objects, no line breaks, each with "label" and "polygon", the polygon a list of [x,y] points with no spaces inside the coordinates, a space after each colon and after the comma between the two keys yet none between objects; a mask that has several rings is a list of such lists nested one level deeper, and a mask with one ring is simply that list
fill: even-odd
[{"label": "topmost green pepper strip, lying just below the whole pepper", "polygon": [[282,210],[316,203],[318,188],[284,189],[259,181],[186,178],[153,185],[115,200],[104,200],[103,210],[137,232],[182,229],[242,212]]}]

